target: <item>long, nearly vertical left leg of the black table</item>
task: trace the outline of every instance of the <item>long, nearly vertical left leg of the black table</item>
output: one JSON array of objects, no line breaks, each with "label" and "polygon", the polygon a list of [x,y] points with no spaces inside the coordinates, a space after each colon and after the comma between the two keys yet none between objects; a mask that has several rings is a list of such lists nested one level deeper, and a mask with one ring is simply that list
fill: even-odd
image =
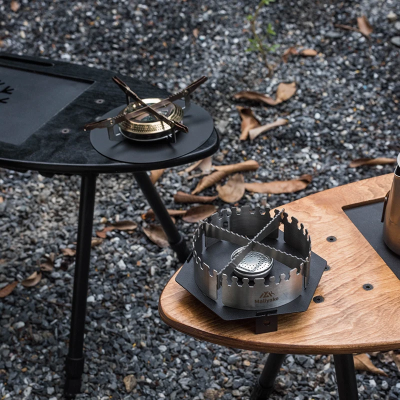
[{"label": "long, nearly vertical left leg of the black table", "polygon": [[87,284],[89,278],[91,229],[93,225],[96,175],[82,175],[78,234],[76,242],[75,274],[73,278],[71,330],[69,349],[65,361],[65,395],[80,392],[83,372],[83,335],[86,316]]}]

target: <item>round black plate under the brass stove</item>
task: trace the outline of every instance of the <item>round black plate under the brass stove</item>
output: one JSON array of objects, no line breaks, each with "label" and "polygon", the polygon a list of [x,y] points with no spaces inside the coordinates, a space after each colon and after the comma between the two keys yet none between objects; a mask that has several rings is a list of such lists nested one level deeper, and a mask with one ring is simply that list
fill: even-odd
[{"label": "round black plate under the brass stove", "polygon": [[[176,103],[184,105],[184,101],[178,100]],[[114,108],[100,119],[115,116],[126,105]],[[176,133],[176,143],[170,143],[166,139],[140,142],[129,140],[120,135],[118,141],[108,139],[107,129],[93,129],[90,132],[91,145],[105,157],[116,161],[128,163],[157,162],[173,159],[187,154],[201,146],[212,134],[214,123],[211,115],[199,105],[191,103],[190,109],[183,116],[189,132],[178,131]],[[115,131],[117,127],[114,127]]]}]

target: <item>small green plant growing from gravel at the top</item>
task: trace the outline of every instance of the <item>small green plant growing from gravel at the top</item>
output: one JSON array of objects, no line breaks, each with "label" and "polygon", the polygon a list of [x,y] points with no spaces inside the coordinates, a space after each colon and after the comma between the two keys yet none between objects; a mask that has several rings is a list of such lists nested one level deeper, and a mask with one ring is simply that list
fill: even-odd
[{"label": "small green plant growing from gravel at the top", "polygon": [[272,24],[269,22],[266,25],[265,33],[260,35],[257,33],[257,17],[261,10],[261,8],[265,5],[269,5],[275,0],[261,0],[254,9],[253,14],[247,15],[247,20],[250,22],[250,29],[252,33],[252,37],[248,39],[250,45],[248,46],[246,51],[256,51],[259,52],[266,68],[268,69],[268,76],[272,74],[272,67],[268,62],[267,54],[269,52],[273,52],[276,48],[279,47],[278,44],[270,44],[271,38],[276,35],[276,32],[273,30]]}]

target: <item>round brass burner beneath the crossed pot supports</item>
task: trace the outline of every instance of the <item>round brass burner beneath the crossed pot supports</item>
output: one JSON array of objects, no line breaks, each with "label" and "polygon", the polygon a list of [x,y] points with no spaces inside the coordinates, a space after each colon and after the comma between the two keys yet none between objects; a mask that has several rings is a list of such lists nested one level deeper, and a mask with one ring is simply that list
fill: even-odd
[{"label": "round brass burner beneath the crossed pot supports", "polygon": [[[147,105],[157,104],[162,101],[160,98],[144,98],[143,103]],[[144,105],[135,101],[127,105],[118,116],[126,115],[143,108]],[[157,111],[173,122],[180,122],[183,119],[183,109],[179,105],[169,102]],[[171,134],[171,126],[160,121],[154,115],[143,112],[135,118],[123,119],[118,123],[120,132],[128,139],[133,140],[158,140]]]}]

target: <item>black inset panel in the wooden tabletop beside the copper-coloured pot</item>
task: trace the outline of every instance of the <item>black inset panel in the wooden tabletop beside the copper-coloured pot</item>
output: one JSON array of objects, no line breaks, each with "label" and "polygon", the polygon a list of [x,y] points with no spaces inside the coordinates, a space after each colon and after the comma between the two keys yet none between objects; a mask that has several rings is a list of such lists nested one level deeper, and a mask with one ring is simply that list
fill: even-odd
[{"label": "black inset panel in the wooden tabletop beside the copper-coloured pot", "polygon": [[400,256],[391,251],[382,238],[383,223],[380,222],[382,209],[383,202],[379,201],[347,208],[344,212],[397,278],[400,279]]}]

